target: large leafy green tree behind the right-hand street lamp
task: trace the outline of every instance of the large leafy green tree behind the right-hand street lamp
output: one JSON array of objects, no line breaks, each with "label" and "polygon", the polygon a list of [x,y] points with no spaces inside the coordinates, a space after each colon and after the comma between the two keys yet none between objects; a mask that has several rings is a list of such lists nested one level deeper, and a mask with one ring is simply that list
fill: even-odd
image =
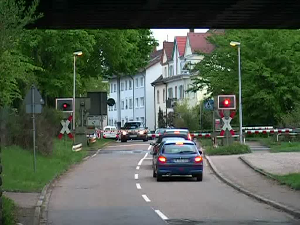
[{"label": "large leafy green tree behind the right-hand street lamp", "polygon": [[238,96],[237,49],[229,43],[239,41],[243,124],[276,125],[299,103],[299,30],[227,30],[208,40],[216,48],[195,66],[194,91]]}]

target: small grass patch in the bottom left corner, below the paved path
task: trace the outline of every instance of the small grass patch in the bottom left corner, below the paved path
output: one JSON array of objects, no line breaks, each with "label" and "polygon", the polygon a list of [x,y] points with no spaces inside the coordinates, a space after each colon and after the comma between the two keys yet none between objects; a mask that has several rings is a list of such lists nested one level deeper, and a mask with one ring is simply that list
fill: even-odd
[{"label": "small grass patch in the bottom left corner, below the paved path", "polygon": [[2,196],[2,216],[3,225],[16,224],[16,204],[5,196]]}]

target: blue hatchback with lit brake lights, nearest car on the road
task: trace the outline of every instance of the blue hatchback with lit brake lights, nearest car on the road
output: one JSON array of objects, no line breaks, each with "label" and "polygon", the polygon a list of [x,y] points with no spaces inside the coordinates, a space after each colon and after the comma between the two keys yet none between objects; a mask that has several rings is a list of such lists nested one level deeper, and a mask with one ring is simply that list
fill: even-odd
[{"label": "blue hatchback with lit brake lights, nearest car on the road", "polygon": [[159,146],[154,156],[153,177],[161,181],[163,175],[191,175],[202,181],[202,152],[190,140],[167,140]]}]

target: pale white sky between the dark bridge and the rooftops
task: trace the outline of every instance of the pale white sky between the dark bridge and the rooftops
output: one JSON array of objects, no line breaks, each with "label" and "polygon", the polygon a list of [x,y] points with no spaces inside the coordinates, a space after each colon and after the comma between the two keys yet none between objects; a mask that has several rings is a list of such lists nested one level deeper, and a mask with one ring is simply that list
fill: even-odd
[{"label": "pale white sky between the dark bridge and the rooftops", "polygon": [[[186,36],[189,29],[151,29],[153,36],[158,40],[157,50],[163,48],[164,41],[174,41],[175,36]],[[195,29],[195,33],[205,33],[208,29]]]}]

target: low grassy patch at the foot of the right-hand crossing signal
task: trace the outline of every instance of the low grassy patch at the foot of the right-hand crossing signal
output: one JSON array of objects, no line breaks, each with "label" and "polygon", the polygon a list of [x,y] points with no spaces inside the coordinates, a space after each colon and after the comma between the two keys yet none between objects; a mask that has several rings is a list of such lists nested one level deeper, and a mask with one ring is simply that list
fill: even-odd
[{"label": "low grassy patch at the foot of the right-hand crossing signal", "polygon": [[241,145],[240,143],[233,143],[229,146],[220,146],[214,148],[212,146],[207,146],[206,151],[208,155],[235,155],[235,154],[245,154],[250,153],[251,150],[247,145]]}]

